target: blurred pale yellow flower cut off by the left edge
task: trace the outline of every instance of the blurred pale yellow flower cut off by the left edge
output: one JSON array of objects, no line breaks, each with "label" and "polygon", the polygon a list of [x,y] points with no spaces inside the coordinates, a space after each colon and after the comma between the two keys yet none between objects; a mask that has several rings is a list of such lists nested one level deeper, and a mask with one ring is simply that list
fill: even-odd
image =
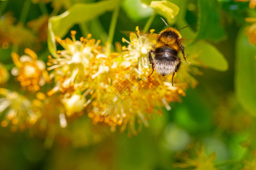
[{"label": "blurred pale yellow flower cut off by the left edge", "polygon": [[29,125],[34,125],[41,116],[40,112],[34,112],[31,102],[17,92],[0,88],[0,114],[5,114],[1,125],[13,125],[13,130],[24,130]]}]

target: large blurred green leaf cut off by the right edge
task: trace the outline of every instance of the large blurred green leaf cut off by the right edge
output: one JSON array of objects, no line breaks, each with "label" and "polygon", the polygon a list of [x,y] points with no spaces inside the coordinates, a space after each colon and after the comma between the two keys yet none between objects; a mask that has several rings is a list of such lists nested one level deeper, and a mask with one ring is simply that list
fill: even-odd
[{"label": "large blurred green leaf cut off by the right edge", "polygon": [[235,91],[243,108],[256,116],[256,47],[250,44],[245,28],[236,41]]}]

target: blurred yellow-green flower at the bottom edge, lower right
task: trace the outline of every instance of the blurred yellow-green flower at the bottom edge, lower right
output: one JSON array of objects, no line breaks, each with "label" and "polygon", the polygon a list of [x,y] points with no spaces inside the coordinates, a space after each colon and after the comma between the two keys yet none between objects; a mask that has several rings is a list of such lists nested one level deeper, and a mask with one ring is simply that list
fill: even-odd
[{"label": "blurred yellow-green flower at the bottom edge, lower right", "polygon": [[207,156],[204,146],[199,145],[199,143],[189,146],[186,151],[178,153],[176,157],[179,163],[175,163],[174,167],[196,170],[217,170],[213,164],[216,154],[212,153]]}]

